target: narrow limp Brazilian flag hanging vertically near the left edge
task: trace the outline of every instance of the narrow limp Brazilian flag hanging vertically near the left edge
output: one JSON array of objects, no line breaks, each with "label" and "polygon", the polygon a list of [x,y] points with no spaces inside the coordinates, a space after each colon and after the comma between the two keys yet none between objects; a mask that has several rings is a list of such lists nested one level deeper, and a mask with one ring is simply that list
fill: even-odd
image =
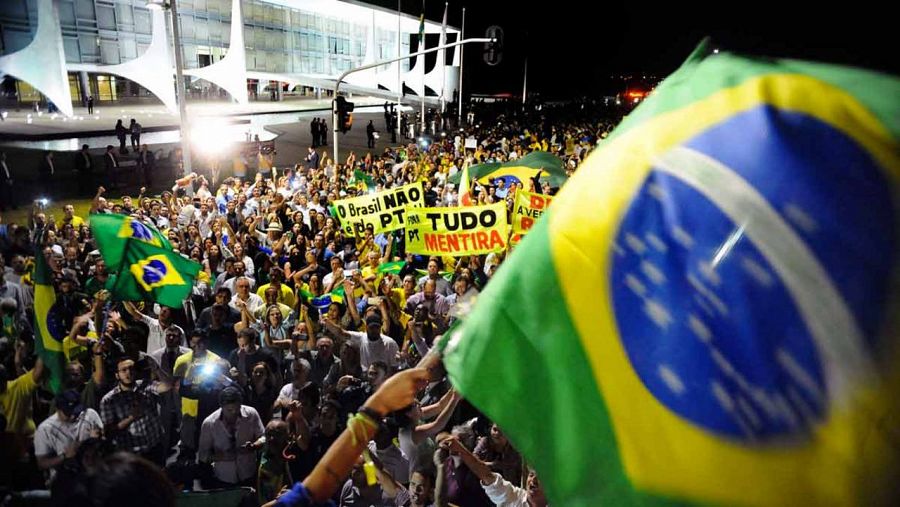
[{"label": "narrow limp Brazilian flag hanging vertically near the left edge", "polygon": [[50,267],[40,248],[35,252],[34,258],[34,349],[44,361],[44,366],[50,370],[50,390],[58,393],[65,367],[62,342],[67,331],[56,312],[56,290],[53,288]]}]

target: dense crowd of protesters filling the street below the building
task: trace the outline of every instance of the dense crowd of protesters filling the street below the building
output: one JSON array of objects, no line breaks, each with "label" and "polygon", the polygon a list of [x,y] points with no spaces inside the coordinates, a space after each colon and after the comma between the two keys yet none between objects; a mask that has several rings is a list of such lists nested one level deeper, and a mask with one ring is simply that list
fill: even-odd
[{"label": "dense crowd of protesters filling the street below the building", "polygon": [[[455,206],[448,179],[465,163],[543,150],[571,172],[614,125],[469,119],[430,143],[340,163],[310,147],[285,171],[190,174],[158,196],[113,200],[100,187],[91,212],[152,224],[202,264],[180,308],[114,301],[89,217],[71,205],[55,223],[34,209],[28,224],[0,225],[0,497],[44,490],[56,505],[117,505],[123,491],[152,489],[129,504],[166,505],[177,491],[246,487],[245,505],[545,503],[502,430],[440,364],[425,380],[416,368],[505,253],[420,257],[402,231],[348,235],[330,214],[333,201],[364,191],[358,170],[375,183],[368,191],[422,181],[426,205]],[[467,150],[470,137],[477,147]],[[515,190],[474,185],[479,203],[511,206]],[[34,352],[36,251],[56,289],[50,331],[65,336],[56,395]],[[399,260],[399,273],[378,269]],[[341,287],[341,301],[313,304]]]}]

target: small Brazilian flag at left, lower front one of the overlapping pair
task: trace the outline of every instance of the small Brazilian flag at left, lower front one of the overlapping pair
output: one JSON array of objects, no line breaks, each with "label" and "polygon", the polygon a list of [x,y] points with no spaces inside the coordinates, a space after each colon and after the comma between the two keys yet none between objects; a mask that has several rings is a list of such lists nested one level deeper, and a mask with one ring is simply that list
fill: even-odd
[{"label": "small Brazilian flag at left, lower front one of the overlapping pair", "polygon": [[130,241],[111,292],[122,301],[149,297],[161,305],[178,308],[190,296],[200,267],[171,250]]}]

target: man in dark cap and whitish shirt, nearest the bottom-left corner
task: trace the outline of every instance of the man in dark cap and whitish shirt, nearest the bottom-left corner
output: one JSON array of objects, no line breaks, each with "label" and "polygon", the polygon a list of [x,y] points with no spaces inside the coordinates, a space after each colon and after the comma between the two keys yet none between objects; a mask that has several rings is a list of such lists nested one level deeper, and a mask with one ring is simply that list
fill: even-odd
[{"label": "man in dark cap and whitish shirt, nearest the bottom-left corner", "polygon": [[78,391],[70,389],[56,396],[56,413],[44,419],[34,433],[34,454],[38,467],[50,470],[78,452],[89,438],[103,435],[103,421],[94,409],[85,409]]}]

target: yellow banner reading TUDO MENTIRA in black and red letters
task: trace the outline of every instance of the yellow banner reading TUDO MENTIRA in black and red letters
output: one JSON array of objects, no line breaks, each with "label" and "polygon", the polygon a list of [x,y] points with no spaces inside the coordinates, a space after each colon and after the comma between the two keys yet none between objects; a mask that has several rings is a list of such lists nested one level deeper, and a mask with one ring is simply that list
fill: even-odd
[{"label": "yellow banner reading TUDO MENTIRA in black and red letters", "polygon": [[406,251],[423,255],[475,255],[506,248],[506,204],[406,210]]}]

